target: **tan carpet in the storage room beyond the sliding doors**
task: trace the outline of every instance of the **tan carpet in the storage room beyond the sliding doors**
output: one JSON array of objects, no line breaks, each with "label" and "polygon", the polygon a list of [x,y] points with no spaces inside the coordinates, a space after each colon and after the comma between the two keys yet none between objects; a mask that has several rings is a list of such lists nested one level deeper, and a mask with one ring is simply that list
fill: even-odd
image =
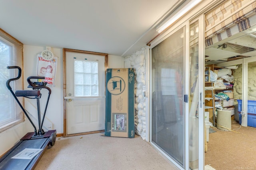
[{"label": "tan carpet in the storage room beyond the sliding doors", "polygon": [[[238,122],[232,121],[232,129],[239,127]],[[209,134],[205,164],[216,170],[255,170],[255,152],[255,127],[241,127],[235,131],[216,130]]]}]

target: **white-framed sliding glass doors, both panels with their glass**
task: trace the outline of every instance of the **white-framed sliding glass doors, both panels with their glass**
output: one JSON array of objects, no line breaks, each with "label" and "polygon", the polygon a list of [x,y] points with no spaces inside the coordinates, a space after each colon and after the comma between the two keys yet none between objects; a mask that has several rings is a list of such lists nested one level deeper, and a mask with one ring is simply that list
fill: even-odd
[{"label": "white-framed sliding glass doors, both panels with their glass", "polygon": [[151,140],[178,168],[204,166],[204,16],[151,48]]}]

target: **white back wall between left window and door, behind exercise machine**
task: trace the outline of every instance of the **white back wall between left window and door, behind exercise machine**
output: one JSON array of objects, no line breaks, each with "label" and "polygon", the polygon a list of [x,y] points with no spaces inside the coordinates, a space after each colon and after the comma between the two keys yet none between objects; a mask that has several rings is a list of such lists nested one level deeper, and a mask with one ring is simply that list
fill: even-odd
[{"label": "white back wall between left window and door, behind exercise machine", "polygon": [[[44,49],[44,47],[24,45],[24,88],[28,86],[28,82],[26,81],[28,76],[37,76],[37,54],[41,53]],[[44,130],[56,129],[57,133],[63,133],[62,49],[52,49],[52,51],[54,55],[58,57],[54,86],[48,85],[52,90],[52,94],[46,111],[46,122],[51,123],[52,126],[45,127]],[[41,93],[42,98],[40,99],[40,105],[41,112],[43,113],[48,91],[42,90]],[[37,111],[36,100],[26,99],[25,109],[31,114],[34,114],[34,112]]]}]

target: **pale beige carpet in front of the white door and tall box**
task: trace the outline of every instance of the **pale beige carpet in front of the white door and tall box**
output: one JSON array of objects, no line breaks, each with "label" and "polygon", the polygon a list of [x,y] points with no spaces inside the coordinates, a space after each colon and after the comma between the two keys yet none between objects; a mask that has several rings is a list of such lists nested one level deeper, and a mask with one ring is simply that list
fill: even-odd
[{"label": "pale beige carpet in front of the white door and tall box", "polygon": [[150,143],[102,133],[57,137],[35,170],[176,170]]}]

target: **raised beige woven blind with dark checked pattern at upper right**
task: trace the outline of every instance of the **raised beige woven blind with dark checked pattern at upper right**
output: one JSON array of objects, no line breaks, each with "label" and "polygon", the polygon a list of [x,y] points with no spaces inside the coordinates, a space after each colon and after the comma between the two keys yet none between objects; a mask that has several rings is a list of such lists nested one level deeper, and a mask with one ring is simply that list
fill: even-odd
[{"label": "raised beige woven blind with dark checked pattern at upper right", "polygon": [[226,0],[205,15],[205,46],[256,24],[255,0]]}]

